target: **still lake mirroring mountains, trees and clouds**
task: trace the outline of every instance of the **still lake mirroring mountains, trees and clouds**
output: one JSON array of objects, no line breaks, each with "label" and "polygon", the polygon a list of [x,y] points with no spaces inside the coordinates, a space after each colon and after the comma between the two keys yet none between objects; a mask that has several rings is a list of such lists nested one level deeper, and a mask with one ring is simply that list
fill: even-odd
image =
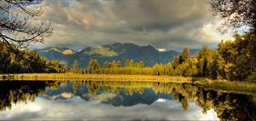
[{"label": "still lake mirroring mountains, trees and clouds", "polygon": [[255,95],[191,84],[0,82],[0,120],[255,120]]}]

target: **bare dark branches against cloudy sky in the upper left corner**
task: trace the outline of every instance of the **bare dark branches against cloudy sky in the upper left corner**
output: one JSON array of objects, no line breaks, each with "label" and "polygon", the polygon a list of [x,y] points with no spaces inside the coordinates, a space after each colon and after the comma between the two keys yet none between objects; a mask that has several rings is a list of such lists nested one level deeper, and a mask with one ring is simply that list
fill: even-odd
[{"label": "bare dark branches against cloudy sky in the upper left corner", "polygon": [[52,34],[51,23],[38,20],[43,11],[31,7],[34,1],[0,0],[0,37],[3,41],[26,48],[29,43],[43,43],[44,37]]}]

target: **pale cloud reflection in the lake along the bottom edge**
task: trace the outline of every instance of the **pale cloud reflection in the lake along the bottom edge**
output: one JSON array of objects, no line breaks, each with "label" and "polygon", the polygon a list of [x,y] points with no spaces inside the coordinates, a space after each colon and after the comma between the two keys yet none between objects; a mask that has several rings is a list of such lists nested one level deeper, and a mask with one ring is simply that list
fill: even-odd
[{"label": "pale cloud reflection in the lake along the bottom edge", "polygon": [[[189,103],[184,111],[176,101],[155,101],[152,105],[113,107],[96,101],[84,101],[79,96],[69,100],[49,101],[38,97],[34,102],[14,104],[12,109],[0,112],[0,119],[214,119],[215,112],[207,114]],[[215,114],[216,115],[216,114]]]}]

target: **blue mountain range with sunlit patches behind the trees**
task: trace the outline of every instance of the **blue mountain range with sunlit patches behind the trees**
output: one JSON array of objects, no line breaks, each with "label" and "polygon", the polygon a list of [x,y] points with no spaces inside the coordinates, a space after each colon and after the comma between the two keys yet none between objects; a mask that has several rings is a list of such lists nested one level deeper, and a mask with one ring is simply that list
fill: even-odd
[{"label": "blue mountain range with sunlit patches behind the trees", "polygon": [[[39,55],[49,60],[59,60],[70,67],[73,65],[73,60],[79,61],[79,67],[86,67],[92,58],[96,58],[101,66],[107,60],[119,60],[124,64],[127,59],[133,59],[134,61],[143,60],[145,66],[154,66],[156,62],[167,63],[172,61],[175,55],[180,54],[180,52],[174,50],[161,52],[151,45],[138,46],[133,43],[113,43],[97,48],[87,47],[80,51],[58,47],[36,49],[36,51]],[[193,49],[191,54],[194,55],[196,51],[197,49]]]}]

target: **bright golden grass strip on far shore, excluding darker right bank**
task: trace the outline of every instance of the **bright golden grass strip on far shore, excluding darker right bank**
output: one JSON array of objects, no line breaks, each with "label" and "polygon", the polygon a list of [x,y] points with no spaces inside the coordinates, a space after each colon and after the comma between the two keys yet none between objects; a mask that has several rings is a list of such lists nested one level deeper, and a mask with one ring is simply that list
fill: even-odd
[{"label": "bright golden grass strip on far shore, excluding darker right bank", "polygon": [[0,74],[0,80],[104,80],[108,81],[147,81],[147,82],[175,82],[191,83],[192,78],[180,76],[149,76],[149,75],[105,75],[105,74],[78,74],[78,73],[24,73],[24,74]]}]

